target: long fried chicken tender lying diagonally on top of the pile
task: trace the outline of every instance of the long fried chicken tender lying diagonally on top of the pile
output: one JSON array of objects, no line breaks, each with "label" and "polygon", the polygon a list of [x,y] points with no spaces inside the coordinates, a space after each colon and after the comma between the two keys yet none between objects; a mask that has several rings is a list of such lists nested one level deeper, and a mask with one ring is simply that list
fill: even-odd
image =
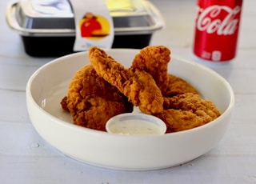
[{"label": "long fried chicken tender lying diagonally on top of the pile", "polygon": [[155,114],[163,110],[162,92],[146,71],[128,70],[96,46],[90,47],[89,58],[97,74],[116,86],[143,113]]}]

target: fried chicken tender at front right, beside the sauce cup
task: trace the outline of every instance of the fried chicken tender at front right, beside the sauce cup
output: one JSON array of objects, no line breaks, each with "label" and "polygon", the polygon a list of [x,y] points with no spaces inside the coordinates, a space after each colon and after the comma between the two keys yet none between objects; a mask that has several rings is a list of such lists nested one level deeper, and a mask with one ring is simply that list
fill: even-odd
[{"label": "fried chicken tender at front right, beside the sauce cup", "polygon": [[167,133],[202,126],[220,116],[213,102],[192,93],[165,98],[164,109],[162,113],[154,115],[166,122]]}]

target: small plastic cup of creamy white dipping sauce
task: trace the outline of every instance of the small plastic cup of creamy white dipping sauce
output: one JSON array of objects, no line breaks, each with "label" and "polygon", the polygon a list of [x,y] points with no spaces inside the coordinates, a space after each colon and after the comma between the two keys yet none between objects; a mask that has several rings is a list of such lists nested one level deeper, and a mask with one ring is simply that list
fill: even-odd
[{"label": "small plastic cup of creamy white dipping sauce", "polygon": [[166,124],[153,115],[125,113],[110,118],[106,122],[106,131],[111,134],[124,135],[165,134]]}]

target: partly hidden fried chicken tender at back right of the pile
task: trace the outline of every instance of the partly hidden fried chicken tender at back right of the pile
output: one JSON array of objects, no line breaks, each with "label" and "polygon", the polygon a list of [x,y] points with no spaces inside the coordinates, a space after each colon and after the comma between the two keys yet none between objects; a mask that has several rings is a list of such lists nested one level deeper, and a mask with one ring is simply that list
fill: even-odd
[{"label": "partly hidden fried chicken tender at back right of the pile", "polygon": [[190,83],[186,82],[182,78],[178,78],[173,74],[168,74],[168,83],[165,97],[173,97],[177,94],[198,94],[198,90]]}]

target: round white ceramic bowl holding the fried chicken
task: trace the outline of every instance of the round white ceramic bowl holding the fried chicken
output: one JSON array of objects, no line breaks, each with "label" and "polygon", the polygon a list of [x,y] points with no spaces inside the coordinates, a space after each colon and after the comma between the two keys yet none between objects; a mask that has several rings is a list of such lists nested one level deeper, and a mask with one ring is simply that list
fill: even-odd
[{"label": "round white ceramic bowl holding the fried chicken", "polygon": [[[129,67],[139,50],[107,50]],[[164,135],[124,136],[72,124],[60,102],[74,73],[89,63],[87,53],[57,58],[39,68],[26,87],[27,108],[38,134],[63,154],[117,170],[156,170],[198,158],[217,146],[230,124],[234,92],[219,74],[195,62],[172,57],[169,73],[194,85],[222,115],[204,126]]]}]

